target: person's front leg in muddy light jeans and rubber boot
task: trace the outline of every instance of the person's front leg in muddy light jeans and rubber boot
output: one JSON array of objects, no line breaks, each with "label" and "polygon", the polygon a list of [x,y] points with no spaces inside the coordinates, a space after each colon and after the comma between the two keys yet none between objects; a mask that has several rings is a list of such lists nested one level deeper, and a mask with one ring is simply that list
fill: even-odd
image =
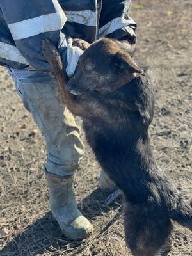
[{"label": "person's front leg in muddy light jeans and rubber boot", "polygon": [[68,238],[83,239],[92,231],[92,225],[77,209],[72,188],[72,177],[84,155],[79,128],[65,107],[54,77],[27,70],[10,70],[10,74],[46,140],[45,173],[52,214]]}]

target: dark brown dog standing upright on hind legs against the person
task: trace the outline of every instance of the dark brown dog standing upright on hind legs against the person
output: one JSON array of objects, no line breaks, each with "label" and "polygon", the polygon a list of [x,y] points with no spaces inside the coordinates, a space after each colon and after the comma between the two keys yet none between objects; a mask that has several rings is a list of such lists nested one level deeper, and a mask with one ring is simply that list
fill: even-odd
[{"label": "dark brown dog standing upright on hind legs against the person", "polygon": [[150,70],[137,65],[134,52],[124,44],[102,39],[86,49],[68,82],[54,45],[44,42],[43,51],[68,108],[83,118],[100,165],[124,192],[127,245],[136,256],[162,255],[170,245],[171,219],[192,229],[192,208],[152,155]]}]

